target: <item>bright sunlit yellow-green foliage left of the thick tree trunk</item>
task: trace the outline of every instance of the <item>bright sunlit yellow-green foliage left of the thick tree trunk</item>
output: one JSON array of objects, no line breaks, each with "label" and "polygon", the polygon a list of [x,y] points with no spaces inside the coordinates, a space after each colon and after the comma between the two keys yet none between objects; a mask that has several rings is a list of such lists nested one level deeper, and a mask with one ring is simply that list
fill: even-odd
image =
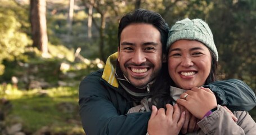
[{"label": "bright sunlit yellow-green foliage left of the thick tree trunk", "polygon": [[[21,11],[17,13],[15,12],[17,10]],[[25,47],[32,43],[32,40],[23,31],[26,23],[19,20],[24,15],[24,10],[20,9],[14,2],[3,1],[1,3],[0,20],[3,21],[0,21],[0,69],[2,69],[0,75],[5,71],[2,61],[15,60],[16,57],[24,53]]]}]

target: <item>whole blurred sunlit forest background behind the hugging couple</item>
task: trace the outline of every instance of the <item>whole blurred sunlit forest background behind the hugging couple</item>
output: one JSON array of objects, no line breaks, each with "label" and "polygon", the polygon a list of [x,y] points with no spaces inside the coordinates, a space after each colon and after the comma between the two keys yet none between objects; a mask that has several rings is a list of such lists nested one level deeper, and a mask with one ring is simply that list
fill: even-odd
[{"label": "whole blurred sunlit forest background behind the hugging couple", "polygon": [[[78,86],[117,51],[120,18],[137,8],[172,26],[208,22],[218,79],[256,90],[254,0],[0,0],[0,134],[84,134]],[[256,109],[250,111],[256,120]]]}]

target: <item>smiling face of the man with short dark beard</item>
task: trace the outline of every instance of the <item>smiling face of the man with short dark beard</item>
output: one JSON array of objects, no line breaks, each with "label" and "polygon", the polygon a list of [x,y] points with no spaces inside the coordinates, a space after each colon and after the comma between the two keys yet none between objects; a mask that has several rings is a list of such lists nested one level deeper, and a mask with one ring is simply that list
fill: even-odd
[{"label": "smiling face of the man with short dark beard", "polygon": [[151,24],[131,24],[120,36],[118,61],[124,76],[137,87],[155,79],[162,66],[160,32]]}]

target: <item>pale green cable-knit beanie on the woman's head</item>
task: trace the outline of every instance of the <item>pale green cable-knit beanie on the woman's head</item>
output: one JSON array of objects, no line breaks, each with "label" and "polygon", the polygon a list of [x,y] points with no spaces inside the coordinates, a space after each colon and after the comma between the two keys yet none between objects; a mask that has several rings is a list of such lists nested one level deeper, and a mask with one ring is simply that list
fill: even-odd
[{"label": "pale green cable-knit beanie on the woman's head", "polygon": [[183,19],[177,21],[169,30],[167,50],[177,40],[198,40],[213,51],[218,61],[218,51],[214,44],[213,34],[208,24],[201,19]]}]

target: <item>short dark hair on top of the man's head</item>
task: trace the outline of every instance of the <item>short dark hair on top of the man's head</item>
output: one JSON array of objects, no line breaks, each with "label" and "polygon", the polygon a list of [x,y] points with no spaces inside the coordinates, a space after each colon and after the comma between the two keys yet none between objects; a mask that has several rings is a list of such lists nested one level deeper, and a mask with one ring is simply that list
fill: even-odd
[{"label": "short dark hair on top of the man's head", "polygon": [[163,19],[163,17],[161,17],[159,13],[145,10],[142,8],[132,13],[128,13],[127,15],[123,16],[122,19],[120,20],[119,27],[118,27],[118,47],[120,47],[120,36],[123,29],[130,24],[136,24],[136,23],[151,24],[156,29],[159,30],[161,35],[162,50],[163,50],[163,54],[165,54],[168,31],[169,31],[168,24],[165,23],[165,20]]}]

